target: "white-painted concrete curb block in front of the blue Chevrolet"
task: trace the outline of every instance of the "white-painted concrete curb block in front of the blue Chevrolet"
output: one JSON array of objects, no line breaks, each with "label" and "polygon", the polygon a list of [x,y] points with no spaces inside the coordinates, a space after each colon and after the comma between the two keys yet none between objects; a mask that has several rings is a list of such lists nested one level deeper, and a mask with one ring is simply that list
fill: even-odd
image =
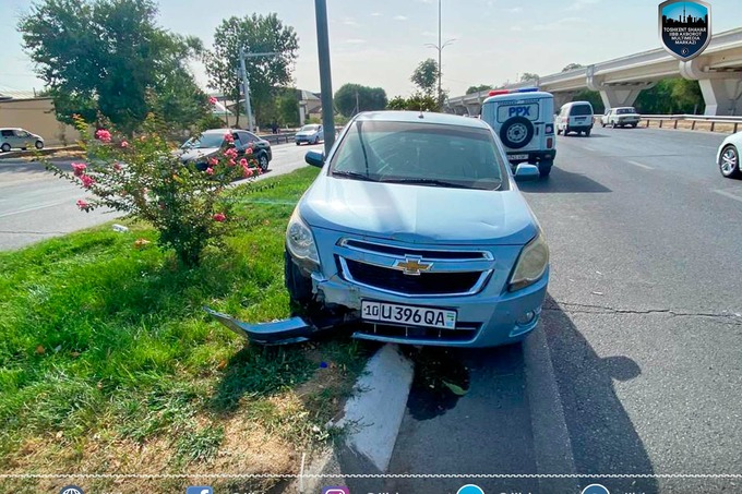
[{"label": "white-painted concrete curb block in front of the blue Chevrolet", "polygon": [[386,472],[407,409],[414,370],[396,345],[385,345],[369,360],[343,418],[334,424],[348,429],[344,444],[315,455],[301,472],[312,477],[300,477],[295,492],[343,485],[345,473]]}]

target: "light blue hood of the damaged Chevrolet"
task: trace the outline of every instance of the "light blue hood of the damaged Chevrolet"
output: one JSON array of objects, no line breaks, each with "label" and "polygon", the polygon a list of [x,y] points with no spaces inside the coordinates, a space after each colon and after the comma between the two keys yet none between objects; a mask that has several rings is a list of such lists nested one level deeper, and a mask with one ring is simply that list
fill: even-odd
[{"label": "light blue hood of the damaged Chevrolet", "polygon": [[321,176],[302,197],[310,226],[420,244],[523,245],[538,231],[517,190],[477,191]]}]

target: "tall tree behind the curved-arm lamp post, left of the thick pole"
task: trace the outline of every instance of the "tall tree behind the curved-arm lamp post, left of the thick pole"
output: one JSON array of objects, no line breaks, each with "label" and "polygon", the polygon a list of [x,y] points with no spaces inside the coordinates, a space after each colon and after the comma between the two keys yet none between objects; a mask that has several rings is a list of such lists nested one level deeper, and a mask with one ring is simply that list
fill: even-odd
[{"label": "tall tree behind the curved-arm lamp post, left of the thick pole", "polygon": [[[270,112],[278,88],[291,83],[299,38],[294,27],[285,26],[275,13],[224,20],[214,33],[214,50],[205,57],[206,72],[210,87],[235,101],[240,100],[242,84],[235,73],[240,48],[249,53],[279,53],[246,59],[253,111],[256,116]],[[237,115],[239,125],[239,111]]]}]

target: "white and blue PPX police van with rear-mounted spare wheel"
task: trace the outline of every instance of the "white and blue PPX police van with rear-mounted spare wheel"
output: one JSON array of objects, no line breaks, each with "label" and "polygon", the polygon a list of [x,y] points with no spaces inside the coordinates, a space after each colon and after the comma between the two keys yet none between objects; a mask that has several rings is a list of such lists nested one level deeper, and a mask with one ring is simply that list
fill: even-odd
[{"label": "white and blue PPX police van with rear-mounted spare wheel", "polygon": [[505,146],[510,162],[538,166],[548,177],[556,156],[554,97],[537,87],[495,89],[482,104],[481,119]]}]

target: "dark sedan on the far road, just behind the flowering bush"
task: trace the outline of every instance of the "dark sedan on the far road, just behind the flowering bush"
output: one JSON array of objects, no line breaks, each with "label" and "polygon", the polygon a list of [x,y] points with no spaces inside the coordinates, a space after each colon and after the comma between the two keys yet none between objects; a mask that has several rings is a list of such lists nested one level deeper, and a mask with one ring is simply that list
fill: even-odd
[{"label": "dark sedan on the far road, just behind the flowering bush", "polygon": [[261,170],[268,169],[268,164],[273,159],[271,143],[252,132],[240,129],[211,129],[189,138],[180,146],[180,159],[183,162],[193,162],[200,170],[205,170],[208,158],[216,156],[229,145],[225,140],[227,133],[231,133],[238,155],[244,155],[244,152],[251,147]]}]

